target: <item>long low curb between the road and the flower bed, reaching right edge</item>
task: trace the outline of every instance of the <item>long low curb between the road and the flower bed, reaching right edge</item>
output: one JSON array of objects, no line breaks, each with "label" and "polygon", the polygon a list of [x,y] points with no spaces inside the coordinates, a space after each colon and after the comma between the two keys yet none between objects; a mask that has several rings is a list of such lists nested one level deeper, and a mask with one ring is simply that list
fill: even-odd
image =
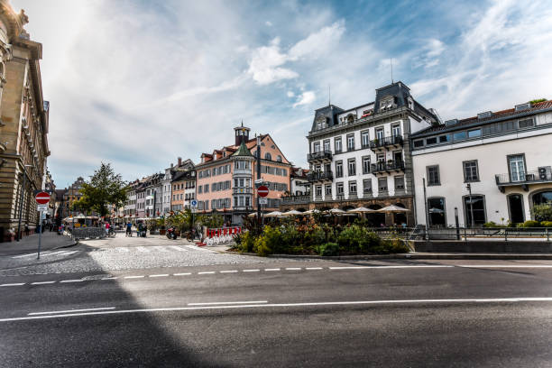
[{"label": "long low curb between the road and the flower bed, reaching right edge", "polygon": [[[256,253],[239,253],[216,251],[237,255],[261,257]],[[552,260],[552,254],[501,254],[501,253],[396,253],[396,254],[359,254],[359,255],[301,255],[301,254],[269,254],[268,258],[312,259],[312,260]]]}]

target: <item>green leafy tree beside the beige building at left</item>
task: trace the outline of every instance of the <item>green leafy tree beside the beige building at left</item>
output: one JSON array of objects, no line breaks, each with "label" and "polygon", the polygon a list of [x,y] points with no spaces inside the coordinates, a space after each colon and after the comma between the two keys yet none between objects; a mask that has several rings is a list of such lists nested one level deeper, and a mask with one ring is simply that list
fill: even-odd
[{"label": "green leafy tree beside the beige building at left", "polygon": [[99,216],[106,216],[109,214],[109,205],[115,208],[124,205],[127,185],[120,174],[115,174],[110,163],[102,162],[90,180],[82,185],[80,193],[82,197],[75,203],[75,207],[87,212],[94,210]]}]

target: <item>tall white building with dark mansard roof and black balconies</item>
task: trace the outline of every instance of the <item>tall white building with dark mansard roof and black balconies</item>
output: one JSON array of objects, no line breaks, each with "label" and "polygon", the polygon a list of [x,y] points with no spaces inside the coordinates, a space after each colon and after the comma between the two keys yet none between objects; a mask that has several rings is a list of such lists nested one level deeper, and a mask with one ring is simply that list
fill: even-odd
[{"label": "tall white building with dark mansard roof and black balconies", "polygon": [[397,205],[409,209],[406,218],[380,214],[373,222],[414,225],[409,136],[432,124],[437,116],[402,82],[376,89],[375,101],[362,106],[317,109],[308,133],[309,207]]}]

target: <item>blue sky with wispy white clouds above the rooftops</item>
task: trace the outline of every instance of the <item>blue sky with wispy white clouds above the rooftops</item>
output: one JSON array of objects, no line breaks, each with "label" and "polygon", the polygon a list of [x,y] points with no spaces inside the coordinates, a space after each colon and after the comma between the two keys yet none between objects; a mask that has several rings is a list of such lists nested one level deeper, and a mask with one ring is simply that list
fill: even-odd
[{"label": "blue sky with wispy white clouds above the rooftops", "polygon": [[443,120],[552,98],[547,1],[12,0],[43,46],[58,188],[126,180],[270,133],[308,167],[314,110],[401,80]]}]

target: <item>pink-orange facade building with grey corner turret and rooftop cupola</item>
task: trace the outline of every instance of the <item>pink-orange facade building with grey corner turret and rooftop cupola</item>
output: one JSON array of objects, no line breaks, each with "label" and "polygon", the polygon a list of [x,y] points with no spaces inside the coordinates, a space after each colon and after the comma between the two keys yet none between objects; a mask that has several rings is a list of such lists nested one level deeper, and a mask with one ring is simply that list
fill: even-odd
[{"label": "pink-orange facade building with grey corner turret and rooftop cupola", "polygon": [[[254,180],[257,178],[257,138],[249,139],[250,129],[235,127],[235,144],[213,153],[203,153],[197,170],[198,212],[216,210],[225,222],[241,224],[242,216],[256,210]],[[261,179],[270,189],[263,211],[280,207],[281,196],[290,190],[290,162],[270,134],[259,137]]]}]

